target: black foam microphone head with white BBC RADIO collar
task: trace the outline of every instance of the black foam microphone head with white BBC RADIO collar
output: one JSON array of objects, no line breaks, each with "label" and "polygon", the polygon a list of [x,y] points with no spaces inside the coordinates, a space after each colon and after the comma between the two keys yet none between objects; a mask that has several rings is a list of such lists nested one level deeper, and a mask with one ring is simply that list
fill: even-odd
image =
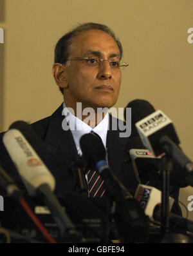
[{"label": "black foam microphone head with white BBC RADIO collar", "polygon": [[179,144],[172,121],[161,110],[156,111],[151,103],[143,99],[135,99],[127,104],[124,115],[127,108],[134,110],[132,112],[132,128],[137,130],[145,148],[154,155],[163,153],[157,139],[158,136],[169,134],[169,137]]}]

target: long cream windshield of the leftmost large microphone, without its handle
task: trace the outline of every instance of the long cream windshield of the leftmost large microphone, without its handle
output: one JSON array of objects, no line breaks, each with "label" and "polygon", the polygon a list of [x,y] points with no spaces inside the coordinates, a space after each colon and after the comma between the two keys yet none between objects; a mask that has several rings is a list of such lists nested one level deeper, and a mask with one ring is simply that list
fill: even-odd
[{"label": "long cream windshield of the leftmost large microphone, without its handle", "polygon": [[55,189],[53,175],[19,130],[8,130],[3,135],[3,143],[30,195],[35,195],[37,188],[44,183],[51,191]]}]

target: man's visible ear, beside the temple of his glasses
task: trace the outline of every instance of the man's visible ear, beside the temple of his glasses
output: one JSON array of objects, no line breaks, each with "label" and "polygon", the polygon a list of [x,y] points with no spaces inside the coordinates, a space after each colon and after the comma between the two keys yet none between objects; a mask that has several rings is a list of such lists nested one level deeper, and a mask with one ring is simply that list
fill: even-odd
[{"label": "man's visible ear, beside the temple of his glasses", "polygon": [[66,79],[66,66],[60,63],[54,63],[52,67],[52,74],[55,79],[55,83],[62,88],[67,88],[68,83]]}]

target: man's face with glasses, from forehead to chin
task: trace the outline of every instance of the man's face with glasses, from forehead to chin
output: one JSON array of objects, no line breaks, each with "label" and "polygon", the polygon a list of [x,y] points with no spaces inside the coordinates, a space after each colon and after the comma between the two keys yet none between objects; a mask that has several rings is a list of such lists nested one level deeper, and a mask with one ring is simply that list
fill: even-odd
[{"label": "man's face with glasses, from forehead to chin", "polygon": [[[73,39],[70,46],[71,57],[99,57],[117,61],[120,51],[113,37],[101,30],[82,32]],[[66,67],[66,106],[74,108],[77,102],[82,108],[111,108],[120,91],[121,72],[111,68],[107,61],[100,66],[88,67],[82,60],[71,60]]]}]

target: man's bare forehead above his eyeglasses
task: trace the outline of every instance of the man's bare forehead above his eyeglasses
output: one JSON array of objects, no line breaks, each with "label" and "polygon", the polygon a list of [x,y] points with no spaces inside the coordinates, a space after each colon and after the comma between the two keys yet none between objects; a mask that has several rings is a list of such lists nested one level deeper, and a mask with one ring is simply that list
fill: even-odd
[{"label": "man's bare forehead above his eyeglasses", "polygon": [[118,45],[111,35],[102,30],[89,30],[78,34],[70,46],[70,54],[80,57],[87,52],[101,52],[101,54],[120,54]]}]

